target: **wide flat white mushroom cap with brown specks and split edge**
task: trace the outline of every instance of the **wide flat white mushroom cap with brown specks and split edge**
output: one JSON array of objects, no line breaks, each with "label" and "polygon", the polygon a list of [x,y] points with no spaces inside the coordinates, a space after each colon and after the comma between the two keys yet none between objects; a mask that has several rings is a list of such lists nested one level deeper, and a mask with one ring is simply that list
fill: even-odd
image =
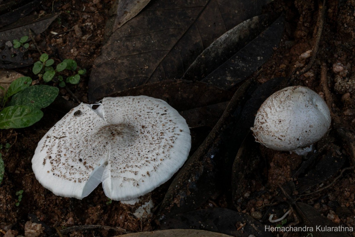
[{"label": "wide flat white mushroom cap with brown specks and split edge", "polygon": [[99,183],[113,200],[146,194],[166,182],[189,155],[184,118],[161,99],[104,98],[81,103],[39,141],[32,158],[38,181],[54,194],[82,199]]}]

